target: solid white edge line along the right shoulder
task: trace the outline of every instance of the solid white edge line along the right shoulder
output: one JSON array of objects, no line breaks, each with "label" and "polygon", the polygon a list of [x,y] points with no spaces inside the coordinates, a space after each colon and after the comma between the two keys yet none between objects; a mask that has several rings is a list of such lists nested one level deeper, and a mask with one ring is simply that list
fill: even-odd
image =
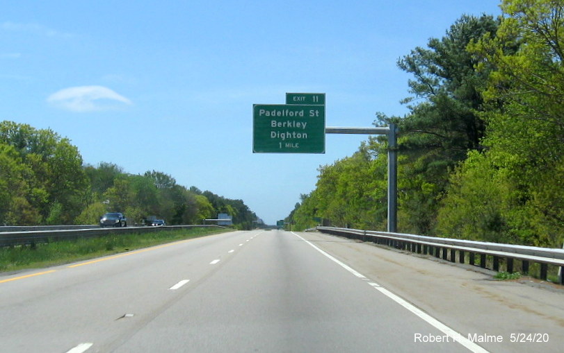
[{"label": "solid white edge line along the right shoulder", "polygon": [[[325,257],[328,257],[332,261],[335,261],[335,263],[337,263],[339,266],[348,270],[348,272],[352,273],[353,275],[355,275],[359,278],[366,278],[366,277],[364,277],[364,275],[361,275],[359,272],[357,272],[357,270],[353,270],[353,268],[351,268],[350,266],[343,264],[341,261],[335,259],[335,257],[332,257],[327,252],[321,250],[320,248],[315,246],[310,241],[305,240],[302,236],[299,236],[298,234],[296,234],[294,232],[291,232],[291,233],[295,236],[298,236],[298,238],[302,239],[306,243],[308,243],[315,250],[321,252],[321,254],[325,255]],[[462,346],[466,347],[471,352],[474,352],[474,353],[489,353],[488,350],[485,350],[483,347],[476,345],[476,343],[470,341],[468,338],[465,338],[464,336],[462,336],[462,334],[460,334],[460,333],[456,332],[455,330],[451,329],[450,327],[444,325],[439,320],[433,318],[433,316],[430,316],[428,313],[425,313],[424,311],[422,311],[418,307],[415,307],[413,304],[411,304],[410,302],[407,302],[406,300],[404,300],[400,296],[388,291],[387,289],[380,286],[379,284],[376,284],[375,282],[369,282],[369,284],[371,286],[373,286],[374,289],[380,291],[380,293],[382,293],[383,295],[386,295],[388,298],[394,300],[394,302],[400,304],[405,309],[408,309],[409,311],[414,313],[416,316],[419,316],[419,318],[423,319],[429,325],[435,327],[436,329],[440,330],[444,334],[452,337],[454,341],[460,343]]]}]

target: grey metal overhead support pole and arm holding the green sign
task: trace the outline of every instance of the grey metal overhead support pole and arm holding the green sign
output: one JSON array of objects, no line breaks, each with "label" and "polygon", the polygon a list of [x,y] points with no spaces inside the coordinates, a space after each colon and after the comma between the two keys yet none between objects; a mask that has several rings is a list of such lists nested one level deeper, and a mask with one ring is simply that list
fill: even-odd
[{"label": "grey metal overhead support pole and arm holding the green sign", "polygon": [[388,135],[388,232],[397,232],[398,223],[398,155],[396,124],[385,128],[325,128],[326,134]]}]

